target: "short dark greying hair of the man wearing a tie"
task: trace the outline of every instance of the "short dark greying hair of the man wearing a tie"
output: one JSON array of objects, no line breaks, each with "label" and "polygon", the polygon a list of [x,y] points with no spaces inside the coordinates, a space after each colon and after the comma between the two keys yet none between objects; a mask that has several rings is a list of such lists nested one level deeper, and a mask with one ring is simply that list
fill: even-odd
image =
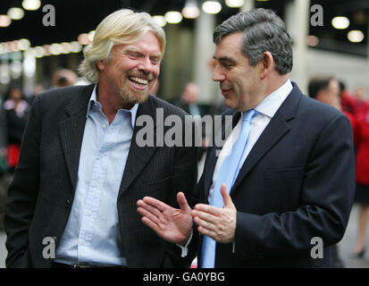
[{"label": "short dark greying hair of the man wearing a tie", "polygon": [[292,43],[286,25],[272,10],[263,8],[231,16],[214,29],[214,44],[235,32],[243,32],[242,54],[255,66],[268,51],[273,55],[276,70],[286,74],[292,70]]}]

